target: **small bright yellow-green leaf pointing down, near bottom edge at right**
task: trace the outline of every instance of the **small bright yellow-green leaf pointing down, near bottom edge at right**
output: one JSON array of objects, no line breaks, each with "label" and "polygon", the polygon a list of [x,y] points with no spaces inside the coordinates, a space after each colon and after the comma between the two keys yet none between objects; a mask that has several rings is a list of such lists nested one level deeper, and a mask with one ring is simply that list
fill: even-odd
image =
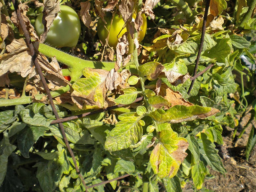
[{"label": "small bright yellow-green leaf pointing down, near bottom edge at right", "polygon": [[192,179],[197,189],[201,189],[206,175],[206,167],[203,161],[198,160],[192,167]]}]

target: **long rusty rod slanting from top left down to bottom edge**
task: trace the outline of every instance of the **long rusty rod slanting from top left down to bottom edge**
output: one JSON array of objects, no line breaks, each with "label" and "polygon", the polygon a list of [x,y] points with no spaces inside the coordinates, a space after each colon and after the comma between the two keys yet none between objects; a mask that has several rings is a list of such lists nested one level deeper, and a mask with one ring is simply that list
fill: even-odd
[{"label": "long rusty rod slanting from top left down to bottom edge", "polygon": [[[38,75],[40,76],[40,79],[41,79],[41,81],[42,81],[42,83],[43,83],[45,92],[46,92],[46,94],[47,94],[47,96],[48,96],[48,99],[49,99],[49,101],[50,101],[50,105],[51,105],[51,107],[52,107],[52,111],[53,111],[53,113],[54,113],[54,116],[56,117],[56,119],[60,119],[60,117],[59,117],[59,115],[58,115],[58,112],[57,112],[57,110],[56,110],[56,108],[55,108],[55,106],[54,106],[50,89],[49,89],[49,87],[48,87],[48,85],[47,85],[47,83],[46,83],[46,80],[45,80],[45,78],[44,78],[44,75],[43,75],[43,72],[42,72],[42,70],[41,70],[40,64],[39,64],[39,62],[38,62],[38,60],[37,60],[37,55],[36,55],[35,47],[34,47],[34,45],[33,45],[32,42],[31,42],[31,39],[30,39],[30,36],[29,36],[29,33],[28,33],[27,26],[26,26],[26,24],[25,24],[25,22],[24,22],[24,20],[23,20],[23,18],[22,18],[20,9],[19,9],[19,7],[18,7],[18,1],[12,0],[12,3],[13,3],[13,5],[14,5],[14,9],[15,9],[15,12],[16,12],[16,14],[17,14],[17,18],[18,18],[18,20],[19,20],[19,22],[20,22],[20,26],[21,26],[21,28],[22,28],[22,30],[23,30],[24,35],[25,35],[25,39],[26,39],[26,42],[27,42],[27,46],[29,47],[29,50],[30,50],[30,52],[31,52],[32,60],[33,60],[34,65],[35,65],[35,67],[36,67],[37,73],[38,73]],[[80,173],[80,171],[79,171],[79,168],[78,168],[78,166],[77,166],[77,164],[76,164],[76,158],[75,158],[75,156],[74,156],[74,153],[73,153],[72,149],[71,149],[70,146],[69,146],[68,139],[67,139],[66,133],[65,133],[65,131],[64,131],[64,126],[63,126],[62,123],[59,123],[59,126],[60,126],[60,130],[61,130],[61,133],[62,133],[62,136],[63,136],[63,140],[65,141],[65,144],[66,144],[66,146],[67,146],[67,148],[68,148],[68,151],[69,151],[69,153],[70,153],[70,155],[71,155],[71,157],[72,157],[72,159],[73,159],[73,162],[74,162],[74,165],[75,165],[75,168],[76,168],[76,172],[78,173],[80,179],[82,180],[82,183],[83,183],[83,185],[84,185],[84,187],[85,187],[85,191],[87,192],[87,188],[86,188],[86,184],[85,184],[85,182],[84,182],[84,178],[82,177],[82,175],[81,175],[81,173]]]}]

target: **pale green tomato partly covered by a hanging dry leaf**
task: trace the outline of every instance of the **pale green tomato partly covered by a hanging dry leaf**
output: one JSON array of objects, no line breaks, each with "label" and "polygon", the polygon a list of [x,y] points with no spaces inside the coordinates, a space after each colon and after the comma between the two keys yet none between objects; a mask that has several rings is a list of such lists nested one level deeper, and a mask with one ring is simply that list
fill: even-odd
[{"label": "pale green tomato partly covered by a hanging dry leaf", "polygon": [[[35,29],[38,36],[43,34],[43,13],[36,18]],[[45,42],[54,47],[75,47],[80,36],[81,25],[77,13],[67,5],[60,5],[60,12],[53,20]]]}]

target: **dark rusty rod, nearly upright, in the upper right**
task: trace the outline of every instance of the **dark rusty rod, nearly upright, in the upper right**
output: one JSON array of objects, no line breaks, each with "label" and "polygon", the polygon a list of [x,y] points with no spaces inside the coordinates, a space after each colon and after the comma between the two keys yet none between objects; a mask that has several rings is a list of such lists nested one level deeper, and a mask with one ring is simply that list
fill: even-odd
[{"label": "dark rusty rod, nearly upright, in the upper right", "polygon": [[[203,51],[204,34],[205,34],[205,29],[206,29],[206,20],[207,20],[207,14],[208,14],[209,6],[210,6],[210,0],[206,0],[205,11],[204,11],[203,27],[202,27],[202,35],[201,35],[200,45],[199,45],[199,49],[198,49],[198,53],[197,53],[197,57],[196,57],[196,64],[195,64],[195,69],[194,69],[193,76],[196,75],[198,64],[199,64],[199,59],[200,59],[200,56],[201,56],[201,52]],[[193,88],[195,80],[196,79],[192,80],[192,82],[190,84],[190,87],[188,89],[188,95],[190,94],[190,92],[191,92],[191,90]]]}]

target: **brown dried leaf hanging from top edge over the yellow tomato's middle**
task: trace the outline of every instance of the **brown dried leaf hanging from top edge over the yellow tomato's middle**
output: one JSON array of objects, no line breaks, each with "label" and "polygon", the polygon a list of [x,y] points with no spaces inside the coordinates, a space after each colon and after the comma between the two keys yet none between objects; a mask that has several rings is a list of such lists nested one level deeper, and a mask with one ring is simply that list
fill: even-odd
[{"label": "brown dried leaf hanging from top edge over the yellow tomato's middle", "polygon": [[134,1],[133,0],[122,0],[119,5],[119,12],[124,20],[124,23],[127,20],[132,20]]}]

